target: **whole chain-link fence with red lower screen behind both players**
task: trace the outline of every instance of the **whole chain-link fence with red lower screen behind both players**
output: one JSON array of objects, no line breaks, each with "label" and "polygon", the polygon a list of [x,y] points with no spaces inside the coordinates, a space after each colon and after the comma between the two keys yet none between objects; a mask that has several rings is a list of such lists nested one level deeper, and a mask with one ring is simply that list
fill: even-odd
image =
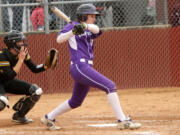
[{"label": "whole chain-link fence with red lower screen behind both players", "polygon": [[[37,83],[45,92],[72,91],[73,87],[67,42],[56,43],[57,32],[66,22],[54,15],[49,7],[57,6],[75,20],[76,8],[82,3],[93,3],[102,14],[96,20],[103,35],[95,40],[94,67],[112,79],[117,88],[180,86],[178,0],[0,2],[1,48],[5,46],[2,35],[18,29],[25,32],[28,52],[35,63],[43,63],[50,48],[59,51],[55,70],[37,75],[23,66],[18,74],[18,78]],[[36,16],[35,11],[40,15]]]}]

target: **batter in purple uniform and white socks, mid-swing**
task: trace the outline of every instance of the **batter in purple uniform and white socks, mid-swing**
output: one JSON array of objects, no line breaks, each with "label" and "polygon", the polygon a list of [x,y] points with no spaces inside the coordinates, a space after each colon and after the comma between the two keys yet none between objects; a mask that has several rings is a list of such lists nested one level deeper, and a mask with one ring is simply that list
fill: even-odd
[{"label": "batter in purple uniform and white socks, mid-swing", "polygon": [[107,94],[107,99],[116,114],[119,129],[137,129],[140,123],[127,119],[121,109],[114,82],[106,78],[93,68],[94,39],[102,31],[94,24],[99,13],[92,4],[82,4],[77,8],[77,21],[67,24],[59,33],[57,42],[68,40],[70,51],[70,74],[74,80],[72,97],[57,106],[52,112],[41,118],[41,122],[50,130],[60,127],[55,125],[55,118],[65,112],[81,106],[90,87],[99,88]]}]

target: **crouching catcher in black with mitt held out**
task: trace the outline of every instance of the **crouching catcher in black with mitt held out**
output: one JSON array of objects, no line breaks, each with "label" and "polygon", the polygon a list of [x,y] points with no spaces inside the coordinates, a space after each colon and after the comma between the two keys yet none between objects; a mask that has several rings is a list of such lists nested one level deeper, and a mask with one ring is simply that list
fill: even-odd
[{"label": "crouching catcher in black with mitt held out", "polygon": [[57,50],[51,49],[45,60],[45,64],[36,65],[31,60],[25,43],[26,37],[23,33],[13,30],[4,37],[7,48],[0,51],[0,111],[9,107],[6,93],[24,94],[12,107],[15,113],[12,121],[27,124],[33,122],[25,115],[34,107],[42,95],[42,89],[36,84],[16,79],[23,63],[34,73],[55,68],[57,62]]}]

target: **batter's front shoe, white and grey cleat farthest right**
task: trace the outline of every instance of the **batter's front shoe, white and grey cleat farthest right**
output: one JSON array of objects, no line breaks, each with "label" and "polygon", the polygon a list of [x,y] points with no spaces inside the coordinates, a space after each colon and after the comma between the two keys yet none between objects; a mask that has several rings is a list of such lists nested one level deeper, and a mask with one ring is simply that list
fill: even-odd
[{"label": "batter's front shoe, white and grey cleat farthest right", "polygon": [[124,121],[118,121],[118,124],[117,124],[117,127],[120,129],[120,130],[123,130],[123,129],[138,129],[142,126],[141,123],[134,123],[131,119],[127,119],[127,120],[124,120]]}]

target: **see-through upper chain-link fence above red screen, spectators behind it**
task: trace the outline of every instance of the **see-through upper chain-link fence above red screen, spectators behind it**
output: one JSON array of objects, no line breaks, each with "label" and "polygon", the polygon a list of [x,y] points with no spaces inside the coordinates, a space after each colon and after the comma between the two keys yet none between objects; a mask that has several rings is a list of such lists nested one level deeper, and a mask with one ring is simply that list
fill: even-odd
[{"label": "see-through upper chain-link fence above red screen, spectators behind it", "polygon": [[23,32],[61,29],[66,22],[51,12],[50,6],[61,9],[71,20],[82,3],[93,3],[101,16],[101,28],[168,24],[168,10],[174,2],[167,0],[0,0],[0,32],[17,29]]}]

